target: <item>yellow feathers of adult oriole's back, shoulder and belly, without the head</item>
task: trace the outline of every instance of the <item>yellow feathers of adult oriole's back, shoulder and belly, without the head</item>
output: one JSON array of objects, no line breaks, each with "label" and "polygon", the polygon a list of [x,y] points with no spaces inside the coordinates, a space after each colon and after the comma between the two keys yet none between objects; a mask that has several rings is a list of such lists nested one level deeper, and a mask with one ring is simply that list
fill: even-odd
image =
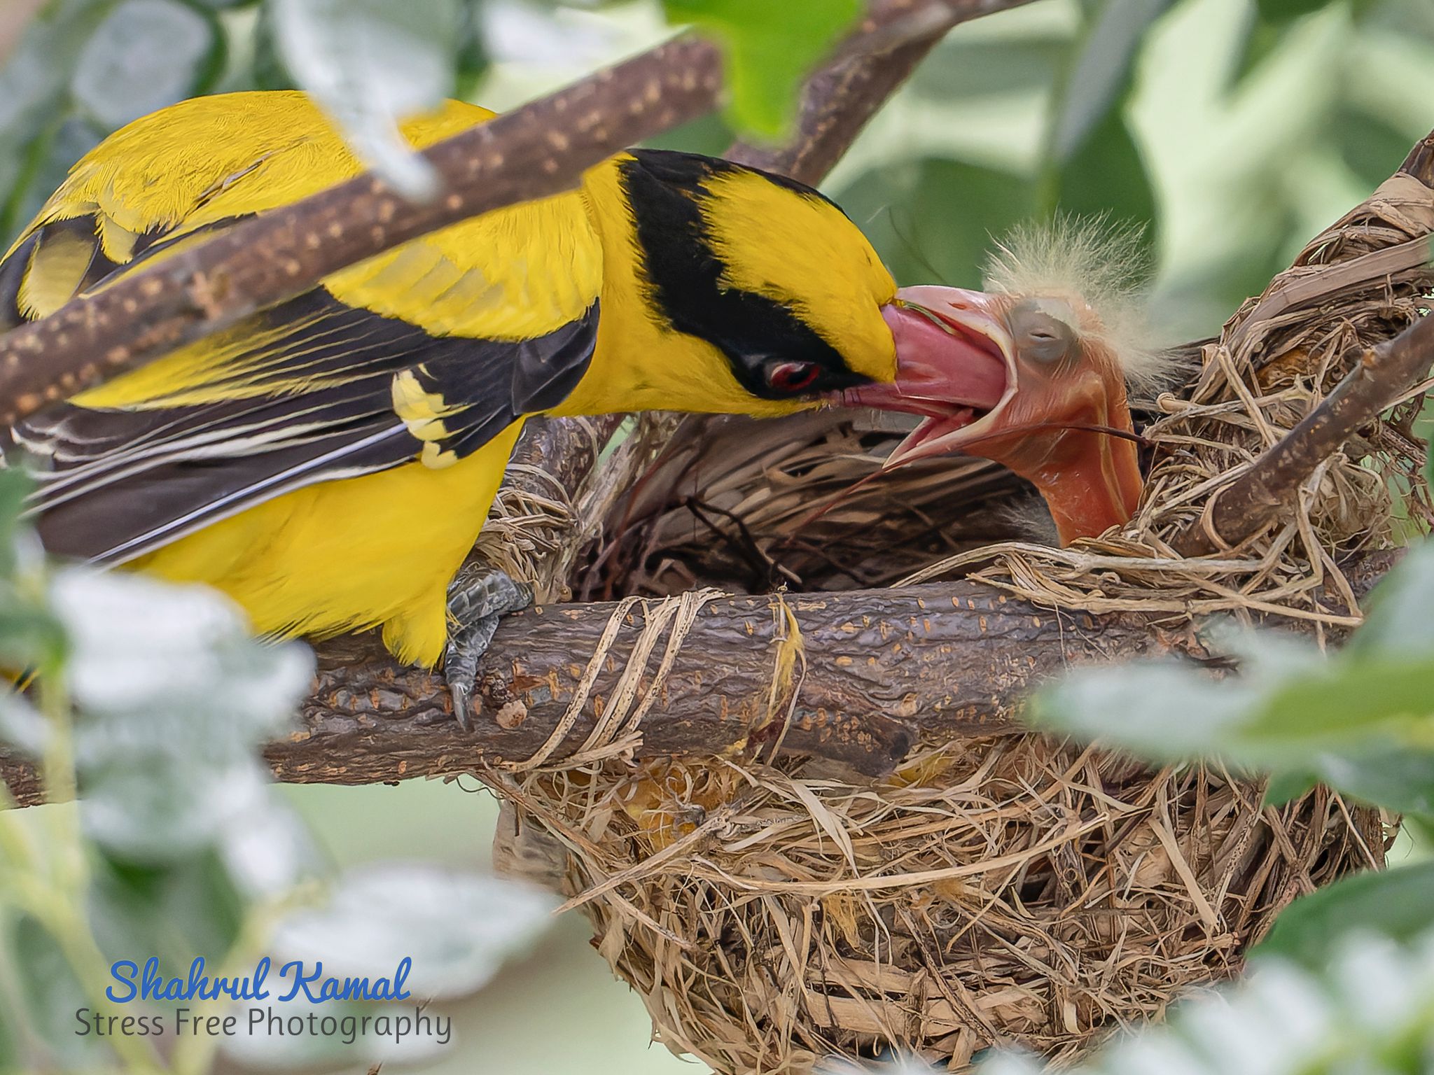
[{"label": "yellow feathers of adult oriole's back, shoulder and belly, without the head", "polygon": [[[199,97],[169,113],[159,129],[133,125],[116,133],[110,152],[82,162],[36,224],[93,214],[102,251],[123,264],[136,235],[156,226],[172,226],[179,236],[287,205],[361,171],[307,97],[254,95],[238,105],[234,97]],[[247,106],[260,110],[262,122]],[[404,133],[422,148],[492,115],[452,102],[409,123]],[[224,136],[228,130],[234,138]],[[82,259],[87,264],[89,254],[75,251],[59,271],[32,268],[32,291],[20,295],[26,312],[43,317],[69,301]],[[44,281],[47,292],[33,281]],[[581,195],[571,194],[453,225],[324,285],[350,305],[406,318],[436,335],[521,340],[582,312],[601,287],[601,249]],[[252,344],[252,330],[241,327],[73,401],[156,408],[262,396],[270,391],[262,383],[232,383],[238,351]],[[400,661],[432,665],[447,635],[447,583],[482,529],[521,429],[513,423],[452,464],[420,460],[297,489],[129,566],[212,585],[267,634],[323,638],[381,625]],[[353,520],[361,520],[363,540],[340,529]]]}]

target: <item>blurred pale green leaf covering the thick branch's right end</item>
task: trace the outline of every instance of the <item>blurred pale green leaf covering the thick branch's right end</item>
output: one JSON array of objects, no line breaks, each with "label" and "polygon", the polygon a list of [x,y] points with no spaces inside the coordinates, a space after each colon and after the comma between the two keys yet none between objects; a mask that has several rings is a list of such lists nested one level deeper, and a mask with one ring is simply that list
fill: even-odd
[{"label": "blurred pale green leaf covering the thick branch's right end", "polygon": [[[1369,618],[1372,639],[1326,661],[1312,644],[1266,634],[1212,632],[1212,652],[1239,664],[1216,679],[1177,662],[1080,669],[1031,705],[1038,724],[1121,745],[1143,757],[1219,757],[1275,770],[1269,797],[1308,778],[1390,808],[1434,811],[1434,644],[1417,621],[1427,608],[1425,550],[1391,572],[1394,598]],[[1388,639],[1378,635],[1388,634]],[[1362,632],[1361,632],[1362,634]],[[1153,707],[1150,698],[1166,699]]]}]

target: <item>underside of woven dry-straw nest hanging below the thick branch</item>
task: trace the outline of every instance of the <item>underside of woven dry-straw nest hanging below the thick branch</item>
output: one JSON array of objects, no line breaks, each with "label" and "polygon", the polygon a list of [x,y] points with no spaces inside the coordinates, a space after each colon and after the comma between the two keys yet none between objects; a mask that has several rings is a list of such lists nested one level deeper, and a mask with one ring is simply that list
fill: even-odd
[{"label": "underside of woven dry-straw nest hanging below the thick branch", "polygon": [[1262,810],[1223,773],[1041,737],[929,748],[880,784],[654,764],[509,794],[561,834],[561,884],[657,1038],[720,1072],[1063,1056],[1226,976],[1291,899],[1384,854],[1378,814],[1328,793]]}]

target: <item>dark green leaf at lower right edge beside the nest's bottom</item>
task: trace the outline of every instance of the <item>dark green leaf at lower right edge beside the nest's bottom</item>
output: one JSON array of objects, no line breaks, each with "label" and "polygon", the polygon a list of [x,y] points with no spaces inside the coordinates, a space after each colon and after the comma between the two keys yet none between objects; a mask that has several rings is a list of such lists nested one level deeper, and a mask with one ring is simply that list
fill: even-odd
[{"label": "dark green leaf at lower right edge beside the nest's bottom", "polygon": [[1405,942],[1434,927],[1434,863],[1341,877],[1289,904],[1252,957],[1282,956],[1321,970],[1342,935],[1378,933]]}]

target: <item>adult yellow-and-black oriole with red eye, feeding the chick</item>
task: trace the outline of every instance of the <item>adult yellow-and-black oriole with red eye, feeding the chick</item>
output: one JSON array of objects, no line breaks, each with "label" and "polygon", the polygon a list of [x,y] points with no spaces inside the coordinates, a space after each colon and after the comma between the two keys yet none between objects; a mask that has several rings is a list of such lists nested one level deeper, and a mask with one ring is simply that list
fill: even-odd
[{"label": "adult yellow-and-black oriole with red eye, feeding the chick", "polygon": [[[404,136],[422,148],[490,116],[449,102]],[[0,262],[0,330],[360,171],[301,93],[199,97],[136,120],[75,166]],[[571,192],[336,272],[11,437],[37,460],[52,552],[209,583],[261,632],[377,626],[399,659],[432,665],[449,582],[529,414],[846,401],[989,439],[981,423],[1012,406],[1025,335],[1055,324],[1060,347],[1035,341],[1040,377],[1081,366],[1100,421],[1129,427],[1120,370],[1081,353],[1071,308],[925,300],[898,295],[820,194],[634,149]],[[1038,416],[1068,417],[1060,393],[1027,396]],[[1055,469],[1080,472],[1088,532],[1129,516],[1139,474],[1133,453],[1087,437]],[[1041,441],[1051,454],[1060,433]],[[1051,496],[1054,479],[1037,480]]]}]

